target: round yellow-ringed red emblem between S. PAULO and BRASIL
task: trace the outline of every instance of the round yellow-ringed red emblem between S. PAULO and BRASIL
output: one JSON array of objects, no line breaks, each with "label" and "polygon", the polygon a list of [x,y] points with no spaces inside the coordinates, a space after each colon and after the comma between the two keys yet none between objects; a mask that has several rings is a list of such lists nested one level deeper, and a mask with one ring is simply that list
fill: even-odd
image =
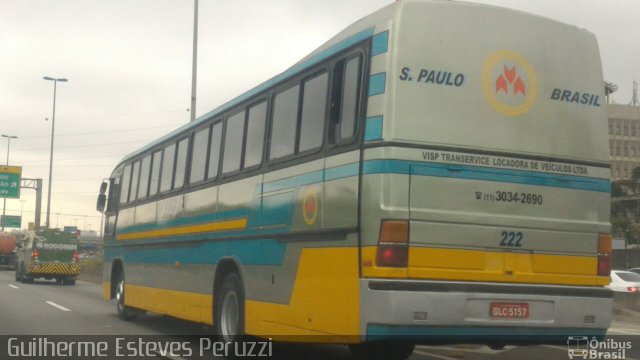
[{"label": "round yellow-ringed red emblem between S. PAULO and BRASIL", "polygon": [[527,59],[515,51],[499,50],[484,62],[482,90],[496,110],[518,116],[529,111],[535,103],[538,82]]}]

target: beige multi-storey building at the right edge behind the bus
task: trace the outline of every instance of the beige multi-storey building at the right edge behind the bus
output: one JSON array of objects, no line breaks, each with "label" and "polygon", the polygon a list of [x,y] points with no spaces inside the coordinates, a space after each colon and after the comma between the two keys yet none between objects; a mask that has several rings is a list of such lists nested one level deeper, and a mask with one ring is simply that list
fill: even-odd
[{"label": "beige multi-storey building at the right edge behind the bus", "polygon": [[626,180],[640,166],[640,107],[609,104],[611,179]]}]

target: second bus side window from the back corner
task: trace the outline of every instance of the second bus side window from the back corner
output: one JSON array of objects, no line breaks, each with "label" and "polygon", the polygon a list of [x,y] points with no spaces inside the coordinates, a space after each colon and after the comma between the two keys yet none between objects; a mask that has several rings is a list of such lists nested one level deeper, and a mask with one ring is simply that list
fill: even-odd
[{"label": "second bus side window from the back corner", "polygon": [[305,81],[303,85],[299,152],[322,145],[328,78],[327,73],[324,73]]}]

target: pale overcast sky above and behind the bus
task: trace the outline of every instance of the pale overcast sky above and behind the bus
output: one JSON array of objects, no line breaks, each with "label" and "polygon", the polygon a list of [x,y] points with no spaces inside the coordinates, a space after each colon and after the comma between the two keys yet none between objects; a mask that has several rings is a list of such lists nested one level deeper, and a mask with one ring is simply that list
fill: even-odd
[{"label": "pale overcast sky above and behind the bus", "polygon": [[[200,0],[196,116],[286,70],[393,0]],[[472,0],[594,33],[604,78],[628,104],[640,81],[638,0]],[[10,165],[42,178],[46,202],[56,92],[51,226],[99,231],[102,179],[127,154],[189,121],[191,0],[0,0],[0,134]],[[7,139],[0,138],[0,163]],[[33,221],[35,191],[6,214]]]}]

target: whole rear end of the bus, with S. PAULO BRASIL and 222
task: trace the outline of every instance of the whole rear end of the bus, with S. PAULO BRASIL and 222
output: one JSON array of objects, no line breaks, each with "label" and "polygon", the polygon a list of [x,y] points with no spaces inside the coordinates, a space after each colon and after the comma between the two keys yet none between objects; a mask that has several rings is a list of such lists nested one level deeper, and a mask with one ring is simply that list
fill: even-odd
[{"label": "whole rear end of the bus, with S. PAULO BRASIL and 222", "polygon": [[368,340],[566,342],[611,321],[595,37],[507,9],[399,3],[361,197]]}]

